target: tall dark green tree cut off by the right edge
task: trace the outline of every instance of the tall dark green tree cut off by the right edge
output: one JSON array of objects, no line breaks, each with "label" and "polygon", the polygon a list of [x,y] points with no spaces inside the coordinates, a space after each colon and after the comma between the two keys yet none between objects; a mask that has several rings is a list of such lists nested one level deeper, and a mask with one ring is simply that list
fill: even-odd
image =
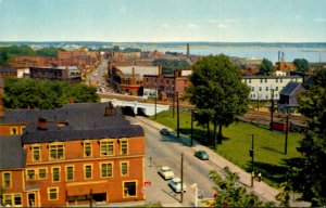
[{"label": "tall dark green tree cut off by the right edge", "polygon": [[[300,113],[310,119],[309,131],[298,151],[303,158],[298,162],[297,184],[302,199],[313,207],[326,205],[326,70],[319,69],[313,77],[313,86],[299,95]],[[298,180],[296,180],[298,181]]]}]

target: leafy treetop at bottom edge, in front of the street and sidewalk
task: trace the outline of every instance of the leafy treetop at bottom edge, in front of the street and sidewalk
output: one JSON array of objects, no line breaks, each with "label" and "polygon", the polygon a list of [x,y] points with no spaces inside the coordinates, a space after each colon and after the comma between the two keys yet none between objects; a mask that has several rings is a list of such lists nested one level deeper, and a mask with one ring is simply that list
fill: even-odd
[{"label": "leafy treetop at bottom edge, in front of the street and sidewalk", "polygon": [[231,172],[228,167],[223,169],[222,178],[215,170],[210,171],[210,179],[212,179],[216,186],[214,207],[272,207],[273,203],[263,203],[253,193],[247,193],[246,187],[240,185],[239,176]]}]

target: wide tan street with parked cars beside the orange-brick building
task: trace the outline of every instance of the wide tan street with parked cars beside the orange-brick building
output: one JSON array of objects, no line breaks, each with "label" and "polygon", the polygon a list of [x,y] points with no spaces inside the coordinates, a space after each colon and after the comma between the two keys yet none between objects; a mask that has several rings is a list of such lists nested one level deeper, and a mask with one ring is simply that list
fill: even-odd
[{"label": "wide tan street with parked cars beside the orange-brick building", "polygon": [[[131,118],[135,119],[135,118]],[[190,185],[198,184],[199,196],[212,198],[214,183],[209,179],[209,171],[217,169],[210,160],[200,160],[193,156],[193,150],[180,143],[173,135],[161,135],[156,128],[141,122],[146,134],[146,181],[151,186],[146,187],[147,203],[161,203],[164,206],[193,206],[195,188]],[[158,174],[158,168],[168,166],[175,177],[180,178],[181,153],[184,153],[184,181],[187,192],[184,202],[180,194],[176,194],[167,185],[167,181]]]}]

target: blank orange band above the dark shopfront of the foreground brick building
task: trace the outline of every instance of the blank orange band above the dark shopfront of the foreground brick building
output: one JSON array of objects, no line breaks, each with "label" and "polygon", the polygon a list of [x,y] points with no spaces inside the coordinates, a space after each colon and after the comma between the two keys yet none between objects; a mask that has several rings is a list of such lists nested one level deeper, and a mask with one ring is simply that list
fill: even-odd
[{"label": "blank orange band above the dark shopfront of the foreground brick building", "polygon": [[67,196],[89,195],[90,190],[92,194],[106,193],[108,183],[80,184],[80,185],[71,185],[66,187]]}]

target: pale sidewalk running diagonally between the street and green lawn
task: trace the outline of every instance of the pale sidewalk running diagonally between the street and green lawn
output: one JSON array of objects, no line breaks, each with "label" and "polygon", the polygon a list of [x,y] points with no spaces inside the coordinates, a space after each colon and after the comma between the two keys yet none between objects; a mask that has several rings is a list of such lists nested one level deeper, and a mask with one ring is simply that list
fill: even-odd
[{"label": "pale sidewalk running diagonally between the street and green lawn", "polygon": [[[145,117],[137,117],[137,119],[139,119],[142,122],[146,122],[156,129],[162,129],[162,128],[166,128],[165,126],[158,123],[155,121],[149,120]],[[168,128],[167,128],[168,129]],[[173,131],[172,129],[168,129],[170,131]],[[186,144],[186,145],[190,145],[190,138],[180,134],[180,138],[178,139],[181,143]],[[228,161],[227,159],[225,159],[224,157],[222,157],[221,155],[218,155],[217,153],[215,153],[214,151],[212,151],[211,148],[200,144],[199,142],[197,142],[196,140],[192,141],[193,146],[191,147],[195,151],[198,150],[204,150],[206,151],[206,153],[209,153],[210,155],[210,160],[212,162],[214,162],[218,168],[223,169],[225,167],[229,167],[229,169],[233,172],[237,172],[240,177],[240,182],[249,190],[249,191],[253,191],[255,192],[259,196],[263,197],[264,200],[267,202],[275,202],[275,204],[277,205],[278,202],[276,200],[276,195],[278,194],[278,190],[275,187],[272,187],[269,185],[267,185],[265,182],[258,182],[254,181],[253,182],[253,187],[250,187],[250,183],[251,183],[251,174],[246,172],[244,170],[240,169],[238,166],[234,165],[233,162]],[[303,202],[290,202],[290,206],[291,207],[306,207],[310,206],[308,203],[303,203]]]}]

